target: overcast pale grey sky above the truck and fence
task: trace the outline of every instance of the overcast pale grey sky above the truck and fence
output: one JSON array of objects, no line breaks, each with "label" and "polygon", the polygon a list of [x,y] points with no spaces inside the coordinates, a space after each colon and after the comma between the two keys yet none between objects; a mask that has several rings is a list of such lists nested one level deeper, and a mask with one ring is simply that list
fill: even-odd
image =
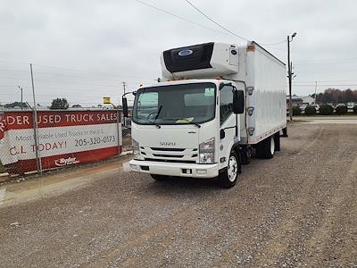
[{"label": "overcast pale grey sky above the truck and fence", "polygon": [[[66,97],[71,105],[118,102],[128,90],[161,76],[162,50],[218,41],[244,44],[195,11],[185,0],[0,0],[0,103],[32,102],[29,63],[34,64],[37,103]],[[325,88],[357,89],[357,1],[191,0],[214,21],[262,44],[291,43],[297,95]],[[265,46],[286,62],[286,42]],[[347,85],[347,86],[340,86]]]}]

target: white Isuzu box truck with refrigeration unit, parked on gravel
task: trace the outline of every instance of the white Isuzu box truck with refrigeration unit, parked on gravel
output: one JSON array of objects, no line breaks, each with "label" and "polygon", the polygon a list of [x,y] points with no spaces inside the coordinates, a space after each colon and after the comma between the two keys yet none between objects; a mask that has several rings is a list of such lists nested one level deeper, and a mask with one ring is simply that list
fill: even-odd
[{"label": "white Isuzu box truck with refrigeration unit, parked on gravel", "polygon": [[[255,42],[166,50],[162,81],[134,92],[133,172],[218,178],[233,187],[252,152],[272,158],[286,130],[286,66]],[[128,114],[123,96],[124,114]]]}]

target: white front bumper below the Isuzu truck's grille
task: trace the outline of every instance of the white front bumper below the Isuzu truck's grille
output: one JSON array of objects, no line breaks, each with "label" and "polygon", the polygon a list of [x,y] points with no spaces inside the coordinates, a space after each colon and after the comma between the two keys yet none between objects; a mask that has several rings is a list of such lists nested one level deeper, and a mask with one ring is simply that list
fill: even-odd
[{"label": "white front bumper below the Isuzu truck's grille", "polygon": [[214,178],[219,174],[218,163],[168,163],[155,161],[129,161],[132,172],[144,172],[150,174],[190,177],[190,178]]}]

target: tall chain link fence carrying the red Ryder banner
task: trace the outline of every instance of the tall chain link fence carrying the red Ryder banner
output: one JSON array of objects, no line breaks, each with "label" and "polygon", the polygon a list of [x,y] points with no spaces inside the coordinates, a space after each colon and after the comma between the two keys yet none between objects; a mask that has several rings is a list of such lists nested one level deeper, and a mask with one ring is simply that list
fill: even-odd
[{"label": "tall chain link fence carrying the red Ryder banner", "polygon": [[5,173],[95,163],[131,149],[120,100],[143,79],[9,61],[0,69],[0,181]]}]

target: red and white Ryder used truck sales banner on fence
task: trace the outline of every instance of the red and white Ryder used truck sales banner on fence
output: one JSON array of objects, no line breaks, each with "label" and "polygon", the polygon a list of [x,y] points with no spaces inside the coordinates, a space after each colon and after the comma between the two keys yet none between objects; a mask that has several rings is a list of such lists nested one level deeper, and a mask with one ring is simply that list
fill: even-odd
[{"label": "red and white Ryder used truck sales banner on fence", "polygon": [[9,173],[35,171],[36,153],[42,169],[95,162],[121,153],[116,111],[39,111],[37,147],[32,114],[0,113],[0,160]]}]

